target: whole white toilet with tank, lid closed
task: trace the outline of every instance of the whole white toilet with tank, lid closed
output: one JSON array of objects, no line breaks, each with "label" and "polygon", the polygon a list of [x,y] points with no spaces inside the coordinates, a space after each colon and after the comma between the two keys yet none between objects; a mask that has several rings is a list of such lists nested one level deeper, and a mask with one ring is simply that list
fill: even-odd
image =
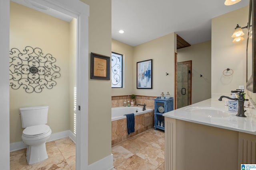
[{"label": "whole white toilet with tank, lid closed", "polygon": [[45,143],[50,138],[52,130],[47,123],[48,106],[20,108],[23,142],[28,145],[28,164],[41,162],[48,158]]}]

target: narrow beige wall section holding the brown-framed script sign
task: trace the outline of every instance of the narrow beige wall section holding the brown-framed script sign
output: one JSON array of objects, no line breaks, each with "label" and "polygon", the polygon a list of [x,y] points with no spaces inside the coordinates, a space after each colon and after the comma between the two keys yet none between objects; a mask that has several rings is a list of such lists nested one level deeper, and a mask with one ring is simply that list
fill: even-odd
[{"label": "narrow beige wall section holding the brown-framed script sign", "polygon": [[[110,57],[111,0],[81,1],[90,6],[89,53]],[[92,164],[111,155],[111,83],[89,79],[88,88],[88,164]]]}]

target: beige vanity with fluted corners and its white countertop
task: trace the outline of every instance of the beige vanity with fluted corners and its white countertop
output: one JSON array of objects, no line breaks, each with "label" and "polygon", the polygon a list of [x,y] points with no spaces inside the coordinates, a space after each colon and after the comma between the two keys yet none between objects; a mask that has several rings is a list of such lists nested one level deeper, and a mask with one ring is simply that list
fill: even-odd
[{"label": "beige vanity with fluted corners and its white countertop", "polygon": [[241,170],[241,164],[256,164],[256,109],[238,117],[219,96],[163,114],[165,170]]}]

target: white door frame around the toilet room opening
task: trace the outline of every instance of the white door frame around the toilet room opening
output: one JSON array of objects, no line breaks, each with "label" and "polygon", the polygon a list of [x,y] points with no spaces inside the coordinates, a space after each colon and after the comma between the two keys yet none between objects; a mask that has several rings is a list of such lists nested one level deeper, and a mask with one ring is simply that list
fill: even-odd
[{"label": "white door frame around the toilet room opening", "polygon": [[[88,17],[89,6],[80,0],[34,0],[43,6],[77,19],[76,47],[76,169],[88,169]],[[10,44],[10,0],[0,0],[0,164],[10,169],[10,119],[9,119],[9,44]],[[81,131],[80,129],[83,129]]]}]

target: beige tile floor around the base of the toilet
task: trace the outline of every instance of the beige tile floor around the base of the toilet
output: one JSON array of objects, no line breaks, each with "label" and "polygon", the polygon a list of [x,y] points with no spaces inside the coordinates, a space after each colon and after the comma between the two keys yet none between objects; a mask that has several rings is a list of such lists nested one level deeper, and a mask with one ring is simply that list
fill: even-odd
[{"label": "beige tile floor around the base of the toilet", "polygon": [[26,149],[10,152],[10,170],[75,170],[76,145],[69,138],[46,143],[48,159],[29,165]]}]

